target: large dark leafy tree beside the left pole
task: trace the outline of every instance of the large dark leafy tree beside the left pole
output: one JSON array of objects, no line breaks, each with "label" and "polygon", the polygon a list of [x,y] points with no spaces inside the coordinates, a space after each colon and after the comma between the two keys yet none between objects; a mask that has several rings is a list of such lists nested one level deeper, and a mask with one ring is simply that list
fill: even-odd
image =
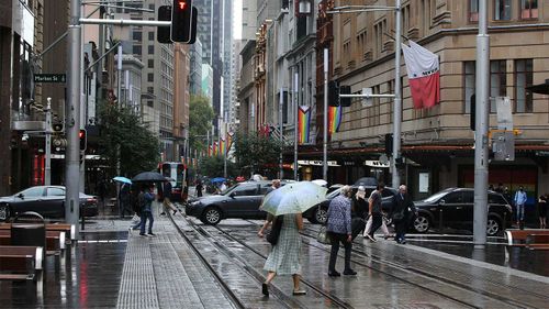
[{"label": "large dark leafy tree beside the left pole", "polygon": [[138,115],[115,104],[99,104],[100,136],[98,152],[111,168],[108,177],[116,173],[117,146],[120,145],[121,174],[132,177],[139,172],[153,170],[160,157],[158,136],[147,130]]}]

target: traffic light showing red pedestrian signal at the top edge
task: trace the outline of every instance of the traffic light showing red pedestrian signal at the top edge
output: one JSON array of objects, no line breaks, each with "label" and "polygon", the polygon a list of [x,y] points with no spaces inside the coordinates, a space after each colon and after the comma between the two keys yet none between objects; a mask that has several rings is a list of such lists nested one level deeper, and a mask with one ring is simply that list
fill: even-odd
[{"label": "traffic light showing red pedestrian signal at the top edge", "polygon": [[193,31],[192,12],[192,0],[173,0],[171,7],[171,41],[191,42]]}]

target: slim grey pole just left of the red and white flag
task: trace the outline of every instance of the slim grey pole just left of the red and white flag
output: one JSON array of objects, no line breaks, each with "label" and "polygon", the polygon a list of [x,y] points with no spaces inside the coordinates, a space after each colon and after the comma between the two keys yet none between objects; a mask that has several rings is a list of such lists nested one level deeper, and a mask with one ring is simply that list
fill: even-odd
[{"label": "slim grey pole just left of the red and white flag", "polygon": [[395,2],[395,46],[394,46],[394,113],[393,113],[393,157],[391,168],[393,170],[393,188],[401,185],[401,176],[396,162],[401,161],[401,132],[402,132],[402,86],[401,86],[401,0]]}]

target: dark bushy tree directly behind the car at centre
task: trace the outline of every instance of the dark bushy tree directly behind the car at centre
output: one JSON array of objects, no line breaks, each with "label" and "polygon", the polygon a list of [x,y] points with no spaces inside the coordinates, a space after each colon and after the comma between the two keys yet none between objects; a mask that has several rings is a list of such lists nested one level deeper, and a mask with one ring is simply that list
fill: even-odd
[{"label": "dark bushy tree directly behind the car at centre", "polygon": [[274,175],[279,169],[280,141],[258,133],[242,133],[235,137],[237,167],[242,175]]}]

